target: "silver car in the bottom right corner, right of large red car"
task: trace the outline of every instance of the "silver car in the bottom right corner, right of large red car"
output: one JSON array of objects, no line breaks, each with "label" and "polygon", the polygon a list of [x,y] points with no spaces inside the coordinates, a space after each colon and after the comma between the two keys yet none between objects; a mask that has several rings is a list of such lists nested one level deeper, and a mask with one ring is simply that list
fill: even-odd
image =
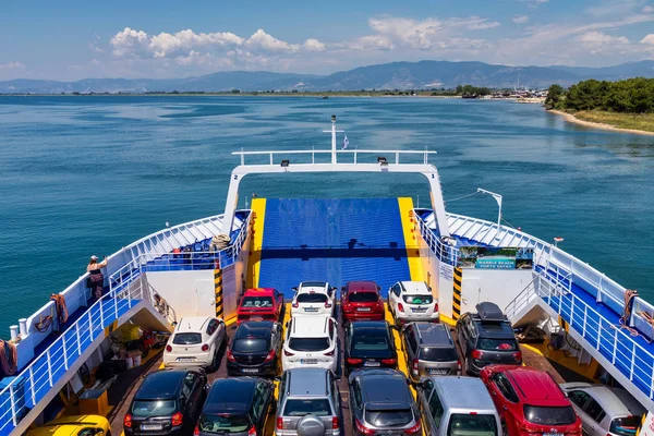
[{"label": "silver car in the bottom right corner, right of large red car", "polygon": [[647,412],[625,389],[589,383],[560,385],[588,436],[634,436]]}]

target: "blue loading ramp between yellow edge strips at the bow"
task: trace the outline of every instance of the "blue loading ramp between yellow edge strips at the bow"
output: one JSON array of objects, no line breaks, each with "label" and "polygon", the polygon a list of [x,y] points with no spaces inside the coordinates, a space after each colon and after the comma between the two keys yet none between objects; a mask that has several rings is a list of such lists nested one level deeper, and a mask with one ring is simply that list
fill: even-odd
[{"label": "blue loading ramp between yellow edge strips at the bow", "polygon": [[411,280],[398,199],[267,199],[259,286],[291,298],[303,280]]}]

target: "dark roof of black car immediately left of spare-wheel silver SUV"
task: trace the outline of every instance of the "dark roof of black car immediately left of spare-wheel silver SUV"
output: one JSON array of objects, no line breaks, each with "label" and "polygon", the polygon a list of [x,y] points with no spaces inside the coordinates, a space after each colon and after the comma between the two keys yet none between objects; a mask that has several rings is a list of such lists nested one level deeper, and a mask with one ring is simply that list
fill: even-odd
[{"label": "dark roof of black car immediately left of spare-wheel silver SUV", "polygon": [[207,395],[203,413],[247,413],[256,384],[253,377],[217,379]]}]

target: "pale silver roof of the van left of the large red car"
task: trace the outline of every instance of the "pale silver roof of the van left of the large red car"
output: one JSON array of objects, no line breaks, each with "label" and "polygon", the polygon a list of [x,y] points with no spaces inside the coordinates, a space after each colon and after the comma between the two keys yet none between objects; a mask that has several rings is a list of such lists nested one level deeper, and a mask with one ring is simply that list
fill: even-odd
[{"label": "pale silver roof of the van left of the large red car", "polygon": [[431,376],[438,398],[449,409],[471,409],[496,412],[491,395],[484,383],[476,377]]}]

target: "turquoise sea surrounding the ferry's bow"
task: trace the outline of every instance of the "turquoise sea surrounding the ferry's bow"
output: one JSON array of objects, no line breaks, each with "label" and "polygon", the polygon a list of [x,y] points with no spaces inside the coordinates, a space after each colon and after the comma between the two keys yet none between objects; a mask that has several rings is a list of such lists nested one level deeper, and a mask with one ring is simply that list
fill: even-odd
[{"label": "turquoise sea surrounding the ferry's bow", "polygon": [[[230,155],[328,148],[435,149],[445,198],[504,195],[506,220],[589,262],[650,301],[654,137],[566,123],[537,105],[437,98],[0,97],[0,336],[110,254],[171,225],[220,214]],[[340,141],[340,140],[339,140]],[[252,177],[268,197],[413,196],[421,177]],[[420,197],[420,198],[419,198]],[[489,220],[474,195],[448,210]]]}]

